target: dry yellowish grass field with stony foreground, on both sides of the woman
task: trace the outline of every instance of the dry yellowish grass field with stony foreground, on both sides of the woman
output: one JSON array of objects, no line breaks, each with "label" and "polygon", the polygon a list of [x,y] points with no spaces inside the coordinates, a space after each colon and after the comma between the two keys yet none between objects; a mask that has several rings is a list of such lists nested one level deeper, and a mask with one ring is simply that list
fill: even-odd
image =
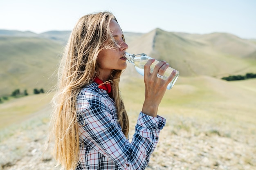
[{"label": "dry yellowish grass field with stony foreground, on both sides of the woman", "polygon": [[[167,123],[147,169],[256,169],[255,84],[256,79],[226,82],[209,76],[179,77],[159,107],[158,113]],[[143,79],[124,76],[120,88],[132,135],[144,99]],[[31,95],[0,104],[0,113],[5,113],[0,131],[3,170],[58,169],[53,168],[50,150],[42,155],[52,95]],[[15,118],[17,112],[21,116]]]}]

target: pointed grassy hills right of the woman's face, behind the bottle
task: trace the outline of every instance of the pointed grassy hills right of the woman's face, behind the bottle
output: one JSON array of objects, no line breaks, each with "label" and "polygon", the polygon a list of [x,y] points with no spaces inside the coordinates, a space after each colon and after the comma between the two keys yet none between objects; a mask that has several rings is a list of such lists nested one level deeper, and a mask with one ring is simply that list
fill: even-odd
[{"label": "pointed grassy hills right of the woman's face, behind the bottle", "polygon": [[127,51],[166,60],[182,76],[222,77],[256,72],[254,57],[246,57],[255,49],[253,42],[230,34],[191,35],[155,29],[133,41]]}]

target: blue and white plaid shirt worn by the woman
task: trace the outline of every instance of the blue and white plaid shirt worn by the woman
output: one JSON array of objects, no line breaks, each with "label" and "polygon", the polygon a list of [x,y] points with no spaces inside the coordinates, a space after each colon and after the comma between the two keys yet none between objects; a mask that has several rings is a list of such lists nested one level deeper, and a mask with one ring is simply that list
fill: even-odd
[{"label": "blue and white plaid shirt worn by the woman", "polygon": [[144,170],[165,125],[163,117],[140,113],[132,141],[117,123],[115,103],[96,83],[77,96],[80,153],[76,170]]}]

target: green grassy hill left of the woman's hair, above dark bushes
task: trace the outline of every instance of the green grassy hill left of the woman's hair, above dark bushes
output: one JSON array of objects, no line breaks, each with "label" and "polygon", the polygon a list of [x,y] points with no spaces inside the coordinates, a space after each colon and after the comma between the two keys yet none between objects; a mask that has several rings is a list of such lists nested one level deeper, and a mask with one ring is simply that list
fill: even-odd
[{"label": "green grassy hill left of the woman's hair, above dark bushes", "polygon": [[19,88],[49,90],[55,83],[63,45],[37,37],[0,37],[0,96]]}]

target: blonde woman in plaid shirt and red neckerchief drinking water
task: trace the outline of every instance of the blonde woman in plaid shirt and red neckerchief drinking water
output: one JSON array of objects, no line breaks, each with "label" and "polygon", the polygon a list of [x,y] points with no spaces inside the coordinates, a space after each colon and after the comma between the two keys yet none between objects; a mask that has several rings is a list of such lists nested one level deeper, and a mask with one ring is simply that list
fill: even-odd
[{"label": "blonde woman in plaid shirt and red neckerchief drinking water", "polygon": [[58,74],[53,102],[54,155],[63,169],[145,169],[156,147],[165,119],[157,109],[174,77],[164,74],[164,61],[150,73],[145,65],[145,101],[135,134],[128,141],[129,121],[119,93],[119,78],[126,68],[128,45],[110,12],[88,14],[74,27]]}]

